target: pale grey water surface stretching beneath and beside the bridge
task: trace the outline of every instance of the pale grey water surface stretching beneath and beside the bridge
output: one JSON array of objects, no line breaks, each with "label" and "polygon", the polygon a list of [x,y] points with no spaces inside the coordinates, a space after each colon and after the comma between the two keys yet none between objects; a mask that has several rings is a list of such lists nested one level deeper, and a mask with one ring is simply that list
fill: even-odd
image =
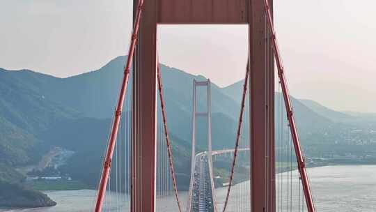
[{"label": "pale grey water surface stretching beneath and beside the bridge", "polygon": [[[374,165],[357,165],[357,166],[328,166],[315,167],[308,169],[310,174],[312,192],[315,199],[315,206],[317,211],[362,211],[370,212],[376,209],[376,166]],[[287,184],[281,185],[281,178],[283,182],[287,179],[287,174],[276,176],[276,206],[281,209],[276,211],[287,210],[288,199],[285,195],[278,197],[281,190],[287,189]],[[292,173],[292,197],[295,201],[292,204],[292,211],[297,211],[297,172]],[[249,182],[245,182],[245,186]],[[241,185],[237,185],[241,186]],[[295,189],[296,188],[296,189]],[[49,197],[54,199],[58,204],[54,207],[41,209],[8,209],[0,211],[17,211],[17,212],[63,212],[63,211],[92,211],[95,190],[75,190],[75,191],[49,191],[46,192]],[[219,202],[218,209],[221,209],[222,202],[226,195],[226,188],[218,188],[216,190],[217,200]],[[290,193],[291,195],[291,193]],[[185,209],[187,192],[180,194],[182,199],[183,209]],[[235,202],[230,201],[228,205],[228,212],[234,209]],[[111,192],[107,198],[105,208],[111,211],[129,211],[129,197],[125,195],[116,195]],[[128,210],[126,210],[128,209]],[[157,199],[157,211],[169,212],[178,211],[174,196],[160,197]]]}]

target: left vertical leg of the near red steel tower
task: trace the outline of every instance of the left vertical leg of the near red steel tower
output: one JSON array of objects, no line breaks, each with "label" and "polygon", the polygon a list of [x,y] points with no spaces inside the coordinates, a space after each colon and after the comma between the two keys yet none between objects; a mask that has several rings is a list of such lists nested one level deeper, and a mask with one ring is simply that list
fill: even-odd
[{"label": "left vertical leg of the near red steel tower", "polygon": [[[134,11],[137,4],[134,0]],[[155,211],[157,1],[144,1],[133,63],[131,211]]]}]

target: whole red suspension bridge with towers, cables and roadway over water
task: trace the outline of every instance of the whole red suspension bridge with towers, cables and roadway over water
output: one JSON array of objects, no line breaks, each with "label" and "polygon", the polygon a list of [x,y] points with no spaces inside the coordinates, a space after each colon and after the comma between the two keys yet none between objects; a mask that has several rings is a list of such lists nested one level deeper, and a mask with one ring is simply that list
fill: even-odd
[{"label": "whole red suspension bridge with towers, cables and roadway over water", "polygon": [[[272,0],[134,0],[134,27],[95,212],[315,212],[272,10]],[[235,139],[228,141],[234,147],[212,149],[212,83],[194,80],[190,169],[185,170],[176,169],[174,156],[181,146],[169,131],[166,107],[171,106],[166,105],[157,54],[159,24],[249,26],[239,119]],[[278,104],[275,75],[282,93]],[[196,107],[200,88],[206,91],[204,110]],[[196,132],[203,118],[205,139]],[[205,151],[196,153],[198,141],[207,145]]]}]

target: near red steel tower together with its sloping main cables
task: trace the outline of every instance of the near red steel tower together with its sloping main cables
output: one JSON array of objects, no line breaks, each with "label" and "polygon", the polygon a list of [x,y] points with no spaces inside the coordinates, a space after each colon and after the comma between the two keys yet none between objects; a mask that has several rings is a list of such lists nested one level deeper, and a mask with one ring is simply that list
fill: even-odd
[{"label": "near red steel tower together with its sloping main cables", "polygon": [[[132,193],[131,211],[155,211],[155,146],[157,81],[162,90],[157,66],[157,24],[247,24],[249,26],[249,96],[250,96],[250,161],[251,211],[274,212],[274,56],[282,86],[285,107],[292,134],[299,173],[301,175],[309,212],[315,212],[304,156],[292,114],[292,106],[283,75],[283,66],[272,24],[272,0],[134,0],[134,29],[124,70],[102,176],[97,193],[95,211],[102,209],[104,192],[109,179],[111,158],[123,101],[130,77],[133,56],[132,89]],[[141,11],[143,12],[141,19]],[[271,33],[271,34],[270,34]],[[269,40],[272,43],[269,43]],[[136,42],[138,41],[138,45]],[[274,53],[274,54],[273,54]],[[158,80],[157,80],[158,79]],[[243,96],[244,100],[244,96]],[[242,118],[240,117],[240,123]],[[164,114],[166,138],[166,116]],[[238,132],[239,134],[239,132]],[[171,174],[173,162],[169,145]],[[236,150],[235,150],[236,152]],[[236,154],[236,153],[235,153]],[[174,178],[174,176],[173,176]],[[174,189],[181,211],[178,192]]]}]

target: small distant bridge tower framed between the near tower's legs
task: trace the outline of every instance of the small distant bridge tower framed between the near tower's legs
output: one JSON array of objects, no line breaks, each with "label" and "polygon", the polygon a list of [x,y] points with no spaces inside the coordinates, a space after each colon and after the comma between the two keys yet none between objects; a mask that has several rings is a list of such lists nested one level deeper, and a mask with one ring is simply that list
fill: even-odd
[{"label": "small distant bridge tower framed between the near tower's legs", "polygon": [[[197,111],[197,87],[205,86],[207,88],[207,107],[205,112]],[[198,82],[194,79],[193,82],[193,109],[192,109],[192,153],[191,153],[191,182],[189,186],[189,198],[187,203],[187,211],[191,211],[191,201],[194,190],[194,173],[196,167],[196,118],[207,117],[207,163],[209,167],[210,184],[212,187],[212,204],[214,211],[217,211],[214,195],[214,176],[213,176],[213,164],[212,164],[212,98],[210,93],[210,79],[207,81]]]}]

